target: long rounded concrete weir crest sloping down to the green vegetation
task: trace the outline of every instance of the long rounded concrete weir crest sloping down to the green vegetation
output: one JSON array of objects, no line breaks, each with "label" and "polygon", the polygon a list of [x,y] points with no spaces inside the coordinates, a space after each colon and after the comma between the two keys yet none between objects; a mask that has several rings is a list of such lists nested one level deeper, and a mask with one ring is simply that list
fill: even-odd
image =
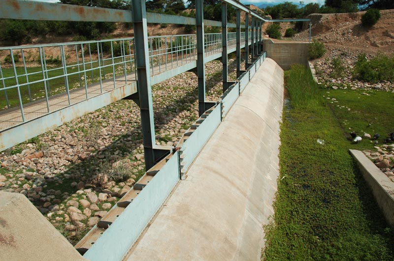
[{"label": "long rounded concrete weir crest sloping down to the green vegetation", "polygon": [[283,70],[267,58],[126,260],[260,260],[282,107]]}]

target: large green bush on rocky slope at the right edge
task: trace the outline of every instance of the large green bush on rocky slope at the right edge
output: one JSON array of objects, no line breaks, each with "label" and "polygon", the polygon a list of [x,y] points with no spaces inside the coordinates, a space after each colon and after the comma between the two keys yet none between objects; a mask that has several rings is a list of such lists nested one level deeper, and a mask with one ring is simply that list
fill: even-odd
[{"label": "large green bush on rocky slope at the right edge", "polygon": [[376,83],[378,81],[394,81],[394,57],[378,54],[368,60],[365,54],[357,57],[353,76],[359,80]]}]

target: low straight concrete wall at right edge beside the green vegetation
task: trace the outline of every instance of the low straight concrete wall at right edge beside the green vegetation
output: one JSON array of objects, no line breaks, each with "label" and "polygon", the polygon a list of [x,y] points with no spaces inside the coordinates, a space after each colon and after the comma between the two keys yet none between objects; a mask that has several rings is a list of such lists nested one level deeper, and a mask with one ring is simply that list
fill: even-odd
[{"label": "low straight concrete wall at right edge beside the green vegetation", "polygon": [[373,196],[382,210],[387,223],[394,227],[394,182],[375,166],[360,150],[349,149],[357,165],[372,189]]}]

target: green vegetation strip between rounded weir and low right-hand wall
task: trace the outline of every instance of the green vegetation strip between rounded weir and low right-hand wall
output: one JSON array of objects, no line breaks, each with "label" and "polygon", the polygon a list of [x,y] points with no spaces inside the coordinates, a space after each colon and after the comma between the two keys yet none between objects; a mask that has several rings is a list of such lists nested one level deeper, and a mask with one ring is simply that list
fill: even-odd
[{"label": "green vegetation strip between rounded weir and low right-hand wall", "polygon": [[303,66],[285,76],[290,108],[283,116],[275,214],[264,228],[262,259],[393,260],[394,233],[349,155],[360,144],[344,135],[336,117],[341,109],[323,97],[325,90]]}]

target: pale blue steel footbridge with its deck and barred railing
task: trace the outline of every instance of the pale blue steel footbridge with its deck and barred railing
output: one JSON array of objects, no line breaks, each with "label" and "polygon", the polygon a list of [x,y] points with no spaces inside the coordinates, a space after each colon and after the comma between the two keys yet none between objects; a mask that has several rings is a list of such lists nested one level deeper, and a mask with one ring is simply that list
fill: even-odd
[{"label": "pale blue steel footbridge with its deck and barred railing", "polygon": [[[244,48],[245,36],[244,33],[241,34],[243,44],[240,47]],[[221,33],[205,34],[205,62],[222,56],[221,37]],[[15,145],[66,121],[106,106],[108,94],[111,96],[109,102],[115,102],[136,93],[133,40],[133,38],[111,39],[0,48],[0,52],[12,54],[12,58],[15,55],[22,58],[19,67],[18,63],[12,60],[12,76],[3,76],[3,72],[7,68],[2,68],[0,64],[2,76],[0,82],[3,86],[2,100],[6,101],[8,107],[0,112],[0,133],[6,133],[7,130],[12,129],[13,137],[16,133],[19,137],[15,142],[2,143],[0,149]],[[248,44],[251,44],[251,33],[249,33]],[[107,50],[106,55],[103,55],[105,45],[110,46],[110,51]],[[228,46],[228,53],[236,51],[234,32],[228,33]],[[99,50],[97,54],[93,54],[93,47]],[[120,48],[121,54],[119,56],[114,54],[115,48]],[[65,58],[65,61],[62,61],[59,66],[47,64],[48,61],[51,62],[53,55],[48,59],[45,52],[53,53],[54,49],[55,51],[59,49],[59,54]],[[32,70],[27,66],[26,54],[30,55],[35,50],[38,50],[40,54],[42,70],[30,72]],[[149,37],[149,54],[151,84],[157,84],[179,73],[193,70],[197,67],[196,35]],[[74,57],[75,59],[73,62],[66,62],[66,57],[69,59]],[[18,74],[18,71],[22,71],[22,73]],[[71,72],[67,73],[67,71]],[[40,79],[32,81],[31,79],[36,76],[39,76]],[[59,79],[64,81],[63,86],[54,90],[53,82],[58,84]],[[32,94],[31,89],[34,86],[39,86],[41,93],[44,94],[40,99],[36,99]],[[8,98],[8,93],[13,89],[18,92],[19,104],[17,106],[10,105]],[[118,95],[113,93],[118,93]],[[85,103],[82,110],[78,109],[75,112],[74,108],[70,108],[79,103]],[[65,115],[67,116],[65,117]],[[29,129],[28,133],[25,132],[26,128]]]}]

